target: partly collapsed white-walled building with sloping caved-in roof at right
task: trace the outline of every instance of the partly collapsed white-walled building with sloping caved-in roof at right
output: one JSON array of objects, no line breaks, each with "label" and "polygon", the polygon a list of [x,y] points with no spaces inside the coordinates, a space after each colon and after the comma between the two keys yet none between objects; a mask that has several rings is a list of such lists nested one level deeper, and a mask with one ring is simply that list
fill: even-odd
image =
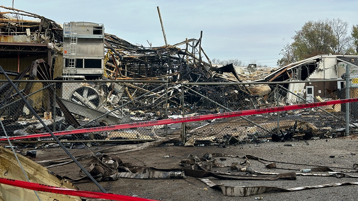
[{"label": "partly collapsed white-walled building with sloping caved-in roof at right", "polygon": [[[357,75],[356,55],[317,55],[284,67],[267,74],[262,79],[253,82],[287,82],[299,80],[324,80],[339,79],[345,73],[346,67],[350,65],[350,76]],[[318,83],[286,83],[283,87],[291,92],[304,97],[307,101],[313,102],[316,96],[326,98],[343,98],[337,92],[344,88],[345,81],[318,82]],[[274,85],[271,85],[273,88]],[[308,92],[308,93],[307,93]],[[343,93],[341,93],[343,94]],[[270,95],[269,95],[270,96]],[[297,98],[285,90],[280,91],[282,103],[296,102]],[[270,98],[270,97],[268,97]],[[271,98],[272,94],[271,94]]]}]

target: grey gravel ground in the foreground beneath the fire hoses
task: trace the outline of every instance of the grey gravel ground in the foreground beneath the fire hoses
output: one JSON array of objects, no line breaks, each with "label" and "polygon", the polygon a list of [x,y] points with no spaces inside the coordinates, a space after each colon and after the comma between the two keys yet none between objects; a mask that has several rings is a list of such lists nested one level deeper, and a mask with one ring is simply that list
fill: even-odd
[{"label": "grey gravel ground in the foreground beneath the fire hoses", "polygon": [[[324,166],[349,167],[354,163],[358,163],[358,137],[342,137],[335,139],[319,139],[308,141],[309,145],[304,144],[303,141],[286,141],[286,142],[269,142],[262,143],[260,146],[254,144],[240,144],[236,146],[159,146],[150,149],[145,149],[136,152],[129,152],[118,155],[123,162],[132,162],[139,166],[157,167],[157,168],[172,168],[179,166],[180,160],[187,159],[189,153],[193,153],[202,157],[206,152],[208,153],[226,153],[229,155],[253,155],[267,160],[285,161],[293,163],[305,163]],[[284,144],[293,144],[294,146],[284,146]],[[114,146],[114,145],[111,145]],[[110,146],[92,146],[91,151],[96,148],[106,148]],[[26,149],[23,150],[26,152]],[[88,153],[88,149],[70,149],[73,155]],[[350,153],[357,153],[351,155]],[[170,158],[163,158],[167,153],[171,155]],[[47,148],[37,151],[37,158],[33,160],[47,160],[51,158],[66,157],[66,153],[61,148]],[[329,156],[335,156],[330,158]],[[243,162],[241,158],[227,158],[226,161],[220,161],[222,164],[230,165],[232,162]],[[250,160],[251,166],[256,171],[262,172],[292,172],[289,170],[267,169],[262,163]],[[86,165],[88,161],[82,161]],[[309,166],[297,166],[289,164],[277,164],[277,167],[290,168],[310,168]],[[73,178],[79,177],[79,167],[71,163],[68,165],[50,168],[62,176],[69,176]],[[227,172],[230,168],[217,168],[215,170]],[[294,171],[299,172],[299,171]],[[318,172],[319,173],[319,172]],[[350,173],[358,176],[358,173]],[[358,182],[357,178],[336,178],[336,177],[312,177],[312,176],[297,176],[297,180],[277,180],[277,181],[242,181],[242,180],[217,180],[211,178],[214,183],[224,183],[227,186],[276,186],[283,188],[320,185],[326,183],[339,182]],[[112,182],[100,182],[100,184],[107,191],[119,193],[122,195],[137,195],[139,197],[146,197],[154,200],[255,200],[255,197],[263,197],[263,200],[357,200],[358,186],[340,186],[320,188],[313,190],[303,190],[296,192],[271,192],[262,193],[256,196],[248,197],[229,197],[222,195],[221,191],[209,188],[197,178],[189,177],[187,179],[150,179],[150,180],[134,180],[134,179],[119,179]],[[78,183],[76,186],[80,190],[97,191],[99,189],[93,183]],[[203,190],[208,188],[208,191]]]}]

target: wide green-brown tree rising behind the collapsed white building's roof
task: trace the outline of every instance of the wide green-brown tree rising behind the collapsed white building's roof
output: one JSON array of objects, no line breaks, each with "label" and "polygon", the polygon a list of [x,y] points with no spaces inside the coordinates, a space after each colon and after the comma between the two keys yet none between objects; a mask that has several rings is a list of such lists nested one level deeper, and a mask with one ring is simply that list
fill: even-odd
[{"label": "wide green-brown tree rising behind the collapsed white building's roof", "polygon": [[[358,47],[358,28],[356,31]],[[300,30],[295,31],[295,35],[292,36],[293,42],[282,48],[282,58],[277,61],[277,65],[284,66],[319,54],[351,53],[351,40],[347,32],[348,22],[339,18],[308,21]]]}]

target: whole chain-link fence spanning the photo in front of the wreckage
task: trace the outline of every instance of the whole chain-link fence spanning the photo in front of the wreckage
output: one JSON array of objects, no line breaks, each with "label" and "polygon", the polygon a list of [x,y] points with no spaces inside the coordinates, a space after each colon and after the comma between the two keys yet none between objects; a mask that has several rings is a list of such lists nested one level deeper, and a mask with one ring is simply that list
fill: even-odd
[{"label": "whole chain-link fence spanning the photo in front of the wreckage", "polygon": [[[28,85],[29,83],[32,83],[31,86]],[[24,107],[24,102],[13,90],[6,88],[6,82],[2,84],[0,90],[3,90],[3,99],[0,112],[8,134],[22,136],[43,133],[42,125]],[[208,85],[123,80],[118,82],[113,80],[36,82],[33,80],[28,83],[19,82],[17,87],[53,132],[323,102],[344,99],[342,94],[345,93],[344,89],[337,89],[325,93],[322,97],[314,96],[314,99],[311,99],[307,95],[292,92],[286,83]],[[240,90],[243,87],[246,90]],[[245,93],[247,89],[252,93]],[[354,93],[350,97],[355,98]],[[342,135],[345,126],[344,111],[345,104],[339,103],[189,123],[174,122],[110,131],[69,133],[59,138],[68,142],[141,142],[155,141],[170,135],[182,137],[182,141],[189,145],[259,143],[267,140],[282,141],[292,137],[306,140]],[[356,127],[355,121],[352,111],[350,127],[353,128],[353,132]],[[41,138],[41,140],[52,141],[52,138]]]}]

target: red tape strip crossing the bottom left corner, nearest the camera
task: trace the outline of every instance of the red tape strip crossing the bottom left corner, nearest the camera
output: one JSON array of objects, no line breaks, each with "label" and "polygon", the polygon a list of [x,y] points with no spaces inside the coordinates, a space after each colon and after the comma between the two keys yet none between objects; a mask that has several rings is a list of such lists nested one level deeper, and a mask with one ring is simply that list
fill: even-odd
[{"label": "red tape strip crossing the bottom left corner, nearest the camera", "polygon": [[73,190],[68,188],[60,188],[55,186],[48,186],[39,183],[32,183],[27,181],[20,181],[20,180],[12,180],[7,178],[0,177],[0,183],[16,186],[20,188],[26,188],[34,191],[42,191],[42,192],[49,192],[49,193],[58,193],[62,195],[71,195],[71,196],[79,196],[79,197],[91,197],[91,198],[98,198],[98,199],[108,199],[108,200],[120,200],[120,201],[155,201],[140,197],[131,197],[125,195],[118,195],[112,193],[99,193],[99,192],[91,192],[91,191],[79,191]]}]

